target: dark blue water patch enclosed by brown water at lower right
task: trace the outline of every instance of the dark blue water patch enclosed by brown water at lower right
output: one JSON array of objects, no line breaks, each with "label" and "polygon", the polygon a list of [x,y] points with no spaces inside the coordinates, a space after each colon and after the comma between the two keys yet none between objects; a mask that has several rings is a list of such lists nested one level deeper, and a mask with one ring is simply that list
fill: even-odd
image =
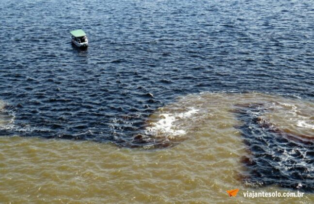
[{"label": "dark blue water patch enclosed by brown water at lower right", "polygon": [[253,186],[277,185],[314,192],[314,140],[284,132],[260,116],[267,112],[263,104],[236,108],[238,127],[249,156],[242,180]]}]

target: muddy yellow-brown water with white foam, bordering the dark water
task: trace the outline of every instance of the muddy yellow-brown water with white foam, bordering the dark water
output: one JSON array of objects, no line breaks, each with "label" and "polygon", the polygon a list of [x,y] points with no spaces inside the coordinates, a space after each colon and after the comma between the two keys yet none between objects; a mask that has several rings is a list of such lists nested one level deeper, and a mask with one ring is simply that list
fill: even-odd
[{"label": "muddy yellow-brown water with white foam, bordering the dark water", "polygon": [[[280,177],[293,168],[291,161],[283,159],[294,158],[291,145],[277,146],[283,153],[274,159],[275,164],[267,160],[260,163],[250,142],[252,138],[246,136],[250,135],[244,124],[248,122],[238,110],[244,107],[246,113],[254,112],[250,107],[256,104],[266,109],[257,114],[256,124],[261,129],[269,128],[269,134],[292,142],[311,142],[313,102],[259,93],[193,94],[157,109],[147,121],[147,135],[173,143],[167,148],[120,148],[92,141],[1,136],[0,202],[313,203],[312,183],[306,179],[302,183],[298,177],[296,184],[306,187],[302,198],[243,196],[247,190],[298,190],[292,180]],[[0,125],[9,127],[11,122],[12,118],[2,116]],[[248,126],[254,130],[254,122]],[[276,155],[272,141],[268,144],[269,149],[263,144],[260,149]],[[294,146],[294,151],[306,154],[311,150],[299,145]],[[257,160],[251,165],[243,158]],[[295,166],[313,174],[313,165],[307,162],[313,162],[313,157],[306,154],[303,160],[298,156],[295,159]],[[278,165],[279,173],[275,173],[279,180],[265,172],[261,175],[268,180],[256,178],[254,168],[259,172],[263,164],[269,169]],[[225,191],[234,188],[239,188],[239,193],[230,198]]]}]

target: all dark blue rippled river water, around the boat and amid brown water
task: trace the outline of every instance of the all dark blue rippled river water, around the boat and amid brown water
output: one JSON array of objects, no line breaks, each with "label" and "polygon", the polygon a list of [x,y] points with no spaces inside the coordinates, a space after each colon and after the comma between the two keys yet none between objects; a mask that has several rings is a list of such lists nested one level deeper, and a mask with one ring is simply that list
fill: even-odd
[{"label": "all dark blue rippled river water, around the boat and amid brown water", "polygon": [[[1,136],[139,147],[155,142],[142,139],[148,117],[188,94],[314,100],[314,1],[4,0],[0,13],[1,114],[12,121]],[[75,29],[87,34],[87,50],[71,44]],[[256,123],[251,109],[238,118]],[[251,139],[248,123],[240,130]],[[295,180],[284,177],[283,187],[306,180],[313,191],[314,144],[306,142],[282,145],[310,151],[306,170],[290,172]],[[252,182],[271,174],[252,171]],[[262,182],[284,180],[281,173],[268,179]]]}]

